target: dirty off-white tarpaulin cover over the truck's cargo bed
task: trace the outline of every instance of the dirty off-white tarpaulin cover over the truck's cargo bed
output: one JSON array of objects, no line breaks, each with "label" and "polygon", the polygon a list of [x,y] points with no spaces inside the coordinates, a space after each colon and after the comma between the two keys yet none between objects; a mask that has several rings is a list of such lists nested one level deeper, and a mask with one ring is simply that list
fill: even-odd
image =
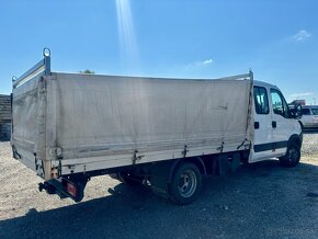
[{"label": "dirty off-white tarpaulin cover over the truck's cargo bed", "polygon": [[13,141],[44,160],[237,148],[251,139],[250,80],[53,73],[43,81],[13,93]]}]

